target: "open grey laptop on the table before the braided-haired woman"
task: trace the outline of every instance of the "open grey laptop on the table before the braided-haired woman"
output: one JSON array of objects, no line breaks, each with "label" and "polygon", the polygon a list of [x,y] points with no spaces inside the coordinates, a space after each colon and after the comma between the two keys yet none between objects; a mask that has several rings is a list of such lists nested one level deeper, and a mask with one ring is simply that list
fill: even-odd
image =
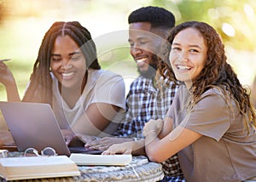
[{"label": "open grey laptop on the table before the braided-haired woman", "polygon": [[52,147],[58,155],[70,156],[71,153],[100,154],[83,145],[68,148],[61,134],[51,106],[32,102],[0,101],[0,111],[12,134],[18,151],[33,147],[39,152]]}]

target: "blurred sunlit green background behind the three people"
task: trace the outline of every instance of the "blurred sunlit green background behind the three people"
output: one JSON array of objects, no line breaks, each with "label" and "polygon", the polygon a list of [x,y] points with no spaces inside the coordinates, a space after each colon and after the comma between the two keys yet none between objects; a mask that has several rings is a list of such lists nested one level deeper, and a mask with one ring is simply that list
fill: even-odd
[{"label": "blurred sunlit green background behind the three people", "polygon": [[[252,84],[256,74],[255,0],[0,0],[0,59],[12,59],[6,64],[22,97],[49,26],[57,20],[78,20],[96,42],[102,68],[121,74],[128,86],[137,77],[137,68],[129,54],[127,17],[148,5],[172,11],[177,24],[201,20],[215,27],[241,82]],[[6,100],[1,84],[0,100]]]}]

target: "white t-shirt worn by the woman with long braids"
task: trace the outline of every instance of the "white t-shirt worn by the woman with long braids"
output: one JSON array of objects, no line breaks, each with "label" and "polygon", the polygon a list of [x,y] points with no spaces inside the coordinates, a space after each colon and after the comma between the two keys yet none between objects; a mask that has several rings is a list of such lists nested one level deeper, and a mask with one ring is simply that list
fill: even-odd
[{"label": "white t-shirt worn by the woman with long braids", "polygon": [[125,82],[121,76],[110,71],[88,69],[84,91],[73,108],[70,108],[66,101],[62,99],[58,88],[58,80],[53,74],[52,78],[53,110],[61,129],[72,128],[90,104],[107,103],[116,105],[121,110],[103,133],[112,134],[116,130],[118,123],[115,122],[121,122],[125,111]]}]

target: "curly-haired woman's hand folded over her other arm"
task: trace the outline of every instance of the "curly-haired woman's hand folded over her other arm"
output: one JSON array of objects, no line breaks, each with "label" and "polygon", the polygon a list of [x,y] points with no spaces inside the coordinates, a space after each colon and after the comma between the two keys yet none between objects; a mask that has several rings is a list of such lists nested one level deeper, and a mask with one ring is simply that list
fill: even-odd
[{"label": "curly-haired woman's hand folded over her other arm", "polygon": [[154,133],[154,134],[160,134],[164,126],[164,121],[161,119],[158,120],[149,120],[149,122],[145,123],[145,126],[143,128],[143,135],[145,137],[148,136],[148,134]]}]

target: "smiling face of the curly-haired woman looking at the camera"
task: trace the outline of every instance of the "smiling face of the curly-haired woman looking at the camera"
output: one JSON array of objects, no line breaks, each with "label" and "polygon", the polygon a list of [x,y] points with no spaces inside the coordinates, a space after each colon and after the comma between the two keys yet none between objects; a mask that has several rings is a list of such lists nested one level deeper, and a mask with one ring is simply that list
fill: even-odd
[{"label": "smiling face of the curly-haired woman looking at the camera", "polygon": [[186,28],[179,31],[172,42],[170,63],[178,81],[191,87],[193,79],[204,68],[207,60],[207,46],[200,31]]}]

